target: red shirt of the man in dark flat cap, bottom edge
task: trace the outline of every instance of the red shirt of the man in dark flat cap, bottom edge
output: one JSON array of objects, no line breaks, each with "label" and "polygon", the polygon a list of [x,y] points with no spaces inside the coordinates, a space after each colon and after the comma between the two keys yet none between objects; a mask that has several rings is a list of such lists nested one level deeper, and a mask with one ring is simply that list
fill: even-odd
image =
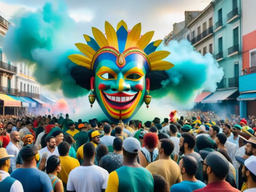
[{"label": "red shirt of the man in dark flat cap, bottom edge", "polygon": [[226,181],[217,181],[208,184],[206,187],[194,190],[193,192],[241,192],[240,190],[232,187]]}]

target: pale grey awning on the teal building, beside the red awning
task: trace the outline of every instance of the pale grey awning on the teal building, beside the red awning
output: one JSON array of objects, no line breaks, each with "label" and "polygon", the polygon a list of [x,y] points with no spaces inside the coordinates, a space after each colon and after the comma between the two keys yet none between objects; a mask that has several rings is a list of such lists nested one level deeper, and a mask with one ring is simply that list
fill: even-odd
[{"label": "pale grey awning on the teal building, beside the red awning", "polygon": [[223,91],[216,91],[207,99],[202,100],[201,103],[220,103],[223,100],[228,99],[228,97],[236,91],[238,91],[238,89],[228,89],[228,90],[223,90]]}]

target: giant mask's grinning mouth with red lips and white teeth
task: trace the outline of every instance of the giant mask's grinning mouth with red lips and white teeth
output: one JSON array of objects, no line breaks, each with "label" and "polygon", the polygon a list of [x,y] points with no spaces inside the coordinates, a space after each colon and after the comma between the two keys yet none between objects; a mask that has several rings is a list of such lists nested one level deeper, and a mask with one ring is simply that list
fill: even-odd
[{"label": "giant mask's grinning mouth with red lips and white teeth", "polygon": [[129,109],[132,104],[136,101],[137,95],[133,94],[127,94],[123,92],[113,93],[113,94],[107,94],[102,91],[102,94],[104,95],[104,99],[106,103],[113,109],[116,110],[126,110]]}]

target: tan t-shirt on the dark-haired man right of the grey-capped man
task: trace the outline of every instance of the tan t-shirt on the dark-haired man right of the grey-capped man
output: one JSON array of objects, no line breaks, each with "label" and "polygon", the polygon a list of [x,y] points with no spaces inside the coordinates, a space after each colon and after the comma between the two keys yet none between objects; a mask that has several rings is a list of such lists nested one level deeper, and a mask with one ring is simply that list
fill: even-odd
[{"label": "tan t-shirt on the dark-haired man right of the grey-capped man", "polygon": [[178,164],[172,159],[158,159],[146,167],[151,174],[162,175],[168,183],[168,189],[176,183],[182,182],[182,175]]}]

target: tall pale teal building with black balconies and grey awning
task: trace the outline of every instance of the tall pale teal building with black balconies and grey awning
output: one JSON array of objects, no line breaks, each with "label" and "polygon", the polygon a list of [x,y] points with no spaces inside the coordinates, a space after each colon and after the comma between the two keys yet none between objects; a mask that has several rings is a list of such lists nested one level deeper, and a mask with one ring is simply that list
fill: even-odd
[{"label": "tall pale teal building with black balconies and grey awning", "polygon": [[224,70],[217,91],[201,103],[239,114],[239,73],[242,61],[241,0],[214,0],[214,57]]}]

